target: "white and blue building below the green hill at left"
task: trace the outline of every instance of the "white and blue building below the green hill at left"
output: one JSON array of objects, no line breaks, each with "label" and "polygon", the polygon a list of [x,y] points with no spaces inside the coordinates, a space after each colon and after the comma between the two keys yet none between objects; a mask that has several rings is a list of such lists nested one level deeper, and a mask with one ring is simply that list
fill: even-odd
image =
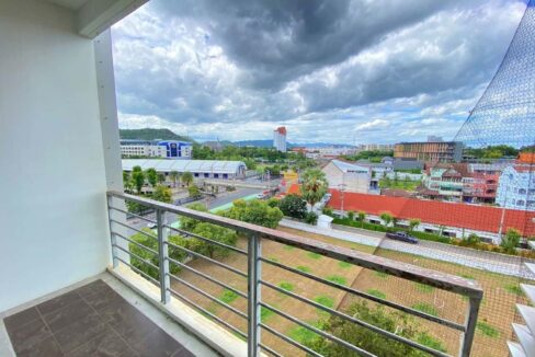
[{"label": "white and blue building below the green hill at left", "polygon": [[177,140],[121,140],[124,157],[149,157],[166,159],[191,159],[193,145]]}]

